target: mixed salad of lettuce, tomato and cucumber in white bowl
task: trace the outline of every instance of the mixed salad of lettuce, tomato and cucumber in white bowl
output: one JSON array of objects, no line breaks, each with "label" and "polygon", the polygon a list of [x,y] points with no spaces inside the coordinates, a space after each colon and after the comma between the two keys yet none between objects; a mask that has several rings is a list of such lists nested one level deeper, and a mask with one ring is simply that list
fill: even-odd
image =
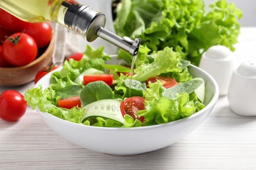
[{"label": "mixed salad of lettuce, tomato and cucumber in white bowl", "polygon": [[173,48],[148,56],[148,48],[141,46],[132,75],[126,55],[117,56],[123,65],[109,64],[112,58],[103,49],[87,46],[81,60],[64,61],[60,71],[51,73],[49,88],[38,85],[25,93],[28,105],[70,122],[100,127],[165,124],[205,107],[203,79],[190,75],[190,62]]}]

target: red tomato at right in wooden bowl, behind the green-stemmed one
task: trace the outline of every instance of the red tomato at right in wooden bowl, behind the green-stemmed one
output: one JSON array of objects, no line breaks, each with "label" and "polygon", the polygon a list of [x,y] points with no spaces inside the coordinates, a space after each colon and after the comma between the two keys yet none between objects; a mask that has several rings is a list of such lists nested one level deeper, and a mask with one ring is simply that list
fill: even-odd
[{"label": "red tomato at right in wooden bowl, behind the green-stemmed one", "polygon": [[50,22],[29,23],[24,22],[24,31],[37,43],[37,48],[47,46],[52,38],[53,28]]}]

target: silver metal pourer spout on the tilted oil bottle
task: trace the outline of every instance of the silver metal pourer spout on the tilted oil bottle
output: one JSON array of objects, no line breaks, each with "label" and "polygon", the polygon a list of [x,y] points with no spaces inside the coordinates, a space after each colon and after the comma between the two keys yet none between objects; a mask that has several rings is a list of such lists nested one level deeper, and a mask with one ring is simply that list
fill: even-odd
[{"label": "silver metal pourer spout on the tilted oil bottle", "polygon": [[70,4],[62,2],[66,8],[64,13],[64,24],[81,35],[87,41],[95,41],[100,37],[119,48],[129,52],[132,56],[137,56],[140,39],[121,38],[114,33],[104,29],[106,17],[104,14],[85,5]]}]

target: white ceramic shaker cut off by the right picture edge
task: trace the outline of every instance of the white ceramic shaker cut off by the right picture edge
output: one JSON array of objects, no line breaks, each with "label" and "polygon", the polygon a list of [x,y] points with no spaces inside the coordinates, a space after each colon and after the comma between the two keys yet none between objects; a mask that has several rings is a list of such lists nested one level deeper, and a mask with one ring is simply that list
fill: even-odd
[{"label": "white ceramic shaker cut off by the right picture edge", "polygon": [[230,109],[242,116],[256,116],[256,61],[244,61],[234,70],[228,89]]}]

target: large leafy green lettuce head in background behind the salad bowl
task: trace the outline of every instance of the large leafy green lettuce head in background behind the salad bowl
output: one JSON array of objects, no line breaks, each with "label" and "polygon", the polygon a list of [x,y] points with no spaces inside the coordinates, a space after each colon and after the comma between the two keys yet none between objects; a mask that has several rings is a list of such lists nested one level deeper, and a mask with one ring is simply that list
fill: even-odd
[{"label": "large leafy green lettuce head in background behind the salad bowl", "polygon": [[121,0],[114,27],[121,37],[139,37],[148,54],[169,46],[182,59],[199,65],[211,46],[221,44],[235,50],[240,18],[242,10],[226,0],[211,4],[209,11],[203,0]]}]

